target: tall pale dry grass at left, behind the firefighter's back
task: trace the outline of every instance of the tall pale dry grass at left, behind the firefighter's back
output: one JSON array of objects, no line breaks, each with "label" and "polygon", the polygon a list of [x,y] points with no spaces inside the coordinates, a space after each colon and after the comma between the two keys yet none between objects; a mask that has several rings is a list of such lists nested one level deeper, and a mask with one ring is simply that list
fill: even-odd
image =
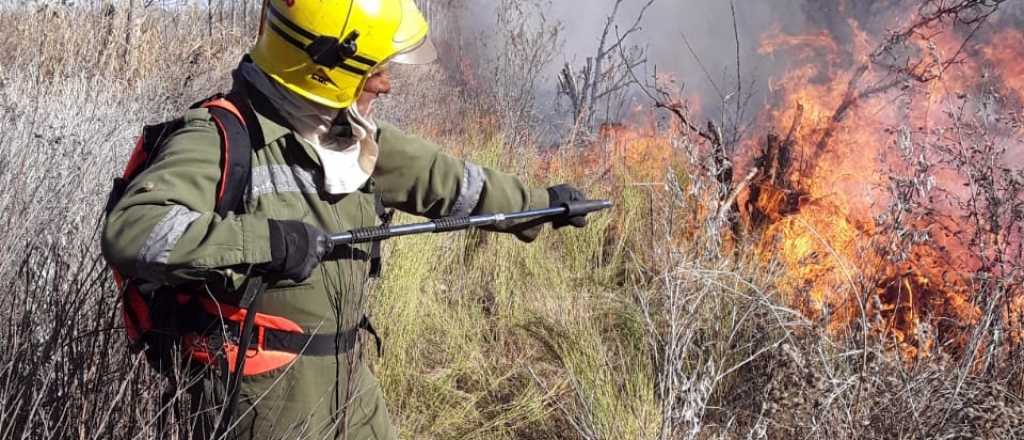
[{"label": "tall pale dry grass at left, behind the firefighter's back", "polygon": [[140,7],[129,27],[118,6],[0,14],[4,438],[152,438],[167,409],[126,350],[100,215],[141,126],[222,90],[248,32],[211,39],[199,10]]}]

